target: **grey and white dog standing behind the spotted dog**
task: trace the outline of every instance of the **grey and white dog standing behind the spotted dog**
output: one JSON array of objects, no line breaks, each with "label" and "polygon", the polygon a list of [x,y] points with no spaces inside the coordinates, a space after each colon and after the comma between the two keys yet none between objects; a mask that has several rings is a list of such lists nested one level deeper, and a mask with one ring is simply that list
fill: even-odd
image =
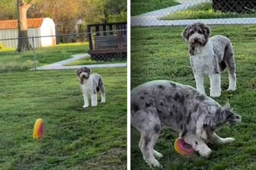
[{"label": "grey and white dog standing behind the spotted dog", "polygon": [[197,90],[205,94],[204,75],[210,78],[210,96],[221,95],[220,73],[227,67],[228,90],[236,90],[236,64],[230,40],[222,35],[211,35],[211,29],[203,23],[188,25],[182,33],[188,40],[188,52]]}]

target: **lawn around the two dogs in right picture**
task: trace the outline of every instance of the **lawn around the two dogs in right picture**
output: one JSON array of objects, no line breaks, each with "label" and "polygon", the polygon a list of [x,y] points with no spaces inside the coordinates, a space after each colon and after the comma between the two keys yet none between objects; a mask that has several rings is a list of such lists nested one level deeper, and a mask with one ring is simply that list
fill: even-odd
[{"label": "lawn around the two dogs in right picture", "polygon": [[[227,71],[222,73],[222,95],[216,100],[224,105],[228,100],[234,111],[243,116],[242,123],[226,127],[218,134],[234,137],[231,145],[212,146],[211,158],[195,155],[181,158],[174,150],[178,133],[163,129],[155,149],[164,170],[255,170],[256,169],[256,26],[212,26],[212,35],[229,37],[235,49],[237,91],[227,92]],[[154,27],[131,29],[131,88],[155,79],[168,79],[195,87],[187,43],[181,38],[184,27]],[[205,77],[209,95],[209,78]],[[131,127],[131,169],[150,170],[138,147],[139,132]]]}]

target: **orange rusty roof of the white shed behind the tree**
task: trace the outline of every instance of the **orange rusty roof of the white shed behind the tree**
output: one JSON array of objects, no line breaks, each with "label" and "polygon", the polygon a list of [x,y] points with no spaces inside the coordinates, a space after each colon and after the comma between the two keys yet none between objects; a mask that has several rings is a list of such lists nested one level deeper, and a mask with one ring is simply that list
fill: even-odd
[{"label": "orange rusty roof of the white shed behind the tree", "polygon": [[[44,18],[27,19],[27,28],[41,27]],[[0,21],[0,29],[17,29],[18,20],[3,20]]]}]

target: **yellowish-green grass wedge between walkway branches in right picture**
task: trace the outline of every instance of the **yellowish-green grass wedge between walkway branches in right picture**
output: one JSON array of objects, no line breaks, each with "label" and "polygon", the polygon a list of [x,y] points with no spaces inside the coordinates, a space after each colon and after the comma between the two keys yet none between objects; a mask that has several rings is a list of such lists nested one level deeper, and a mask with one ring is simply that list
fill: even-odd
[{"label": "yellowish-green grass wedge between walkway branches in right picture", "polygon": [[205,2],[192,6],[186,10],[175,12],[161,18],[161,20],[186,20],[186,19],[214,19],[214,18],[246,18],[256,17],[256,13],[238,14],[234,12],[222,13],[212,9],[212,2]]}]

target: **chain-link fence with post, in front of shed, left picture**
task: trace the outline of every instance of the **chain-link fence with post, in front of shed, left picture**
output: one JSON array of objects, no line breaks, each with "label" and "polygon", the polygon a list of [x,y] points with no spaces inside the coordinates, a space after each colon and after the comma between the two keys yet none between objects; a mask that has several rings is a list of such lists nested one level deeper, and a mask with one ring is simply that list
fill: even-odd
[{"label": "chain-link fence with post, in front of shed, left picture", "polygon": [[28,38],[16,38],[17,29],[0,30],[0,72],[127,63],[126,23],[88,25],[87,32],[65,35],[38,30],[29,29]]}]

